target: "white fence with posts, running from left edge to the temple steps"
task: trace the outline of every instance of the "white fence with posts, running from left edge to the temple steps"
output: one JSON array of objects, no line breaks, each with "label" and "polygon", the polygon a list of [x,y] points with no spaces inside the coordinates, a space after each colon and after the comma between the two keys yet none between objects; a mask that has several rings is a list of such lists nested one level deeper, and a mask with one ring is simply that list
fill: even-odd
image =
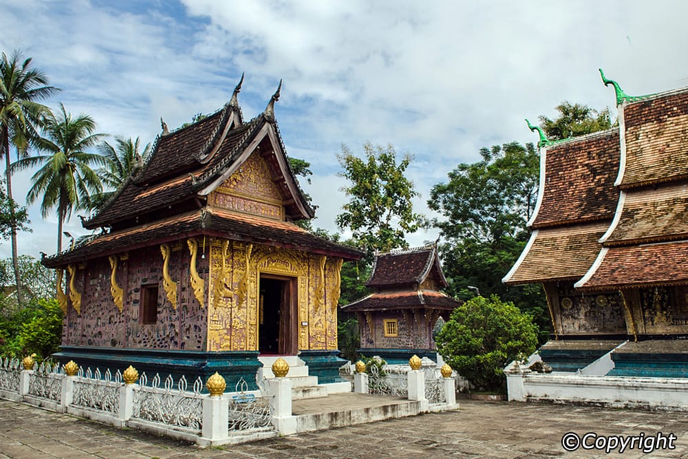
[{"label": "white fence with posts, running from left edge to the temple steps", "polygon": [[[184,376],[178,381],[167,376],[162,382],[156,374],[149,382],[143,373],[138,383],[126,383],[119,370],[113,376],[110,370],[79,368],[70,376],[64,366],[31,365],[32,370],[25,370],[18,359],[0,358],[0,398],[202,446],[277,436],[275,398],[291,396],[290,391],[269,393],[268,380],[261,382],[259,390],[248,391],[241,379],[235,392],[213,395],[202,393],[201,378],[189,388]],[[281,416],[291,415],[291,399],[288,410]]]}]

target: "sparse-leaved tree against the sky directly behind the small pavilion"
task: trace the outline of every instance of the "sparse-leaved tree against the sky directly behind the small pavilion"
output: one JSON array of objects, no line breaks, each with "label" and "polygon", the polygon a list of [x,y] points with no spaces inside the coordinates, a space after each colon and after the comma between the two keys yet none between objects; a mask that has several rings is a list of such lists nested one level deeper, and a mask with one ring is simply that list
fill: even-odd
[{"label": "sparse-leaved tree against the sky directly behind the small pavilion", "polygon": [[363,145],[363,151],[365,158],[358,158],[342,145],[337,157],[343,169],[340,176],[351,182],[343,187],[349,202],[337,215],[337,225],[349,228],[369,255],[374,250],[407,247],[406,233],[416,232],[423,224],[411,202],[418,193],[404,175],[411,156],[397,162],[394,147],[374,147],[370,142]]}]

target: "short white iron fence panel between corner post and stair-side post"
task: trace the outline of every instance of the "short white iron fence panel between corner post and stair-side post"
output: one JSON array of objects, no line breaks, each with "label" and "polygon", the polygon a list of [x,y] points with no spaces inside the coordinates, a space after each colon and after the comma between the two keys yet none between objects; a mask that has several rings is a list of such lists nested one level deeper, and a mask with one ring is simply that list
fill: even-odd
[{"label": "short white iron fence panel between corner post and stair-side post", "polygon": [[239,379],[236,392],[228,394],[229,416],[228,429],[250,431],[272,427],[272,401],[268,395],[268,380],[259,384],[260,396],[248,394],[248,384],[244,378]]}]

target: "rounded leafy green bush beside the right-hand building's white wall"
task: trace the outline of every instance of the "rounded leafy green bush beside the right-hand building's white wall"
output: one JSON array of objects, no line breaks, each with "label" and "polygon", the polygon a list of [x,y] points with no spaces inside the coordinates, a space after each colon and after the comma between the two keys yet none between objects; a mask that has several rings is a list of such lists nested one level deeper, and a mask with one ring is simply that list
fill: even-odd
[{"label": "rounded leafy green bush beside the right-hand building's white wall", "polygon": [[537,345],[533,317],[492,295],[455,308],[437,335],[444,361],[477,389],[504,392],[504,366],[532,354]]}]

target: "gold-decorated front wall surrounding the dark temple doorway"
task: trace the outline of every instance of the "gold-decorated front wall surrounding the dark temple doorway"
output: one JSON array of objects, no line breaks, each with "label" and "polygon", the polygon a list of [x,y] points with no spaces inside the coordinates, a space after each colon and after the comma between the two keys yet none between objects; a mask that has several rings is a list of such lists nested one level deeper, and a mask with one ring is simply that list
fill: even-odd
[{"label": "gold-decorated front wall surrounding the dark temple doorway", "polygon": [[[261,275],[292,279],[301,350],[337,348],[341,259],[275,246],[212,239],[207,350],[259,350]],[[265,317],[275,320],[275,317]],[[294,328],[290,328],[293,330]]]}]

